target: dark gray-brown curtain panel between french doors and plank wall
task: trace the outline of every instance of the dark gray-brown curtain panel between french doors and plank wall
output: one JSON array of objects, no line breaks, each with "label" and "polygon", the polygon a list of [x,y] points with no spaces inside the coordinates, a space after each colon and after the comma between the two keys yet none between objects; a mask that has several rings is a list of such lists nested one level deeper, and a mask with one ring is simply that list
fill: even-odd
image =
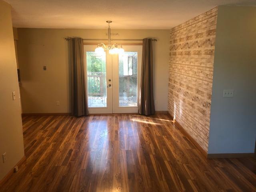
[{"label": "dark gray-brown curtain panel between french doors and plank wall", "polygon": [[142,66],[139,93],[139,114],[155,114],[153,93],[153,56],[152,39],[143,39]]}]

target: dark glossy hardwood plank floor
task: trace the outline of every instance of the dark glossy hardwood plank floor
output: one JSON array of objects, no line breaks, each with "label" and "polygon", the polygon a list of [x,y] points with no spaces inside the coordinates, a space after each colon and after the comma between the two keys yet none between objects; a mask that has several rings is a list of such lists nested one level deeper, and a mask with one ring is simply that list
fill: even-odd
[{"label": "dark glossy hardwood plank floor", "polygon": [[26,164],[0,191],[256,191],[255,158],[208,160],[166,114],[22,119]]}]

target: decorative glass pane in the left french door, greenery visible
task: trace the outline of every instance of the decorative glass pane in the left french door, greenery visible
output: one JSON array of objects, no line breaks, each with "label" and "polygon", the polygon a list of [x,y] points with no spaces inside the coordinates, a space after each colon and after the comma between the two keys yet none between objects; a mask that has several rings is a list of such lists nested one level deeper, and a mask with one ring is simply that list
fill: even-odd
[{"label": "decorative glass pane in the left french door, greenery visible", "polygon": [[106,52],[86,51],[88,107],[107,107]]}]

